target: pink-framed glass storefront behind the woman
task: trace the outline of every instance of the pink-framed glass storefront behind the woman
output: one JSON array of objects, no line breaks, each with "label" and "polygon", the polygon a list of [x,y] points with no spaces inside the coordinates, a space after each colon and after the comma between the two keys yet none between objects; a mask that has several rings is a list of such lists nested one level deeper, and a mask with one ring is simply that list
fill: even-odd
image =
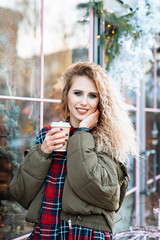
[{"label": "pink-framed glass storefront behind the woman", "polygon": [[[84,23],[76,4],[73,0],[54,4],[45,0],[0,0],[0,239],[14,239],[32,230],[24,220],[25,210],[9,200],[7,189],[23,152],[33,145],[39,129],[62,119],[59,103],[63,71],[79,60],[105,65],[105,53],[97,38],[102,19],[91,9]],[[131,181],[115,232],[160,224],[158,214],[154,214],[154,209],[160,208],[158,43],[153,51],[154,62],[147,66],[140,94],[125,84],[121,88],[143,158],[131,159]]]}]

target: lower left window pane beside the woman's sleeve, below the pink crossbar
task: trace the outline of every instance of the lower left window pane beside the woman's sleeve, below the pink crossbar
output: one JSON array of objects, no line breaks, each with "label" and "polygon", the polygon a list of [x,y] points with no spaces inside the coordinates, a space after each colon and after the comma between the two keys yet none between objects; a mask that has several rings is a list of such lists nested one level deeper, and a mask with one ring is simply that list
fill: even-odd
[{"label": "lower left window pane beside the woman's sleeve, below the pink crossbar", "polygon": [[[9,200],[8,186],[39,131],[39,103],[3,100],[0,104],[0,239],[31,231],[25,210]],[[5,238],[7,236],[7,238]]]}]

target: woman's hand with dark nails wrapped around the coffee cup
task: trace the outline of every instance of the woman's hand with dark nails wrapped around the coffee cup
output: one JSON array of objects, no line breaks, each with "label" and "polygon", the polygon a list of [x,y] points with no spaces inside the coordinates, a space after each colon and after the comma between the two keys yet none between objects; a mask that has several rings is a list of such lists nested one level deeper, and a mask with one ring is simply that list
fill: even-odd
[{"label": "woman's hand with dark nails wrapped around the coffee cup", "polygon": [[53,151],[60,149],[64,146],[66,134],[61,128],[52,128],[45,136],[45,139],[41,145],[41,150],[44,153],[50,154]]}]

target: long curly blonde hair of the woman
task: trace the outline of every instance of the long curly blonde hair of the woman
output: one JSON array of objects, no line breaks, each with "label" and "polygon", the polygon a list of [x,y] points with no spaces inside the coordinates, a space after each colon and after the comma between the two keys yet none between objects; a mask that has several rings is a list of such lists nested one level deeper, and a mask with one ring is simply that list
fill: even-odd
[{"label": "long curly blonde hair of the woman", "polygon": [[128,155],[137,156],[136,135],[120,94],[113,87],[107,72],[91,62],[72,64],[64,73],[61,112],[69,121],[67,95],[74,76],[87,76],[94,81],[98,93],[100,117],[98,125],[92,129],[96,152],[105,152],[120,162],[126,162]]}]

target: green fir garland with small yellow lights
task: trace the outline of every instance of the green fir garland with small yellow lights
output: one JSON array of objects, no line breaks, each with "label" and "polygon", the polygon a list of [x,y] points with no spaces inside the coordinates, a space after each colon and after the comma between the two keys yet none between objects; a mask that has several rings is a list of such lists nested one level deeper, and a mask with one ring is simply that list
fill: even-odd
[{"label": "green fir garland with small yellow lights", "polygon": [[[126,5],[129,8],[129,6]],[[102,34],[98,35],[97,38],[100,41],[100,45],[103,47],[105,55],[107,56],[106,70],[109,70],[110,64],[113,59],[120,52],[119,39],[122,35],[134,36],[138,38],[140,33],[138,33],[134,26],[130,23],[131,19],[134,17],[135,12],[132,11],[124,16],[116,16],[114,13],[107,12],[104,9],[103,1],[89,1],[88,3],[80,3],[77,5],[77,9],[85,9],[84,22],[86,22],[86,17],[89,16],[90,9],[93,8],[94,13],[100,19],[101,24],[104,26]]]}]

